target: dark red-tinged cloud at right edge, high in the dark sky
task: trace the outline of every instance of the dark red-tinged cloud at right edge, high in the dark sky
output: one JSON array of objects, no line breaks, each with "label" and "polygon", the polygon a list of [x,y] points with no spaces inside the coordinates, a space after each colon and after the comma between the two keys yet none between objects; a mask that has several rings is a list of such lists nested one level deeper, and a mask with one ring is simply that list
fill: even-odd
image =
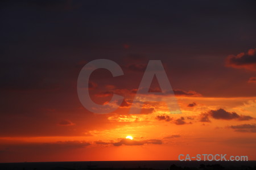
[{"label": "dark red-tinged cloud at right edge, high in the dark sky", "polygon": [[226,58],[226,66],[236,69],[256,70],[256,48],[248,50],[247,53],[230,55]]}]

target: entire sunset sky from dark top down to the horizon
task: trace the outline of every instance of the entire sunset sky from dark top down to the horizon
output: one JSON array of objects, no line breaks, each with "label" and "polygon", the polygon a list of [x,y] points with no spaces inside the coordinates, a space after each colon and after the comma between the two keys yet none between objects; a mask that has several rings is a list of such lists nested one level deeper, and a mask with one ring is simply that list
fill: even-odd
[{"label": "entire sunset sky from dark top down to the horizon", "polygon": [[[256,160],[255,1],[0,3],[0,162]],[[89,79],[94,103],[124,97],[114,112],[90,112],[77,95],[94,59],[123,71]],[[163,101],[129,112],[150,60],[162,62],[181,114]]]}]

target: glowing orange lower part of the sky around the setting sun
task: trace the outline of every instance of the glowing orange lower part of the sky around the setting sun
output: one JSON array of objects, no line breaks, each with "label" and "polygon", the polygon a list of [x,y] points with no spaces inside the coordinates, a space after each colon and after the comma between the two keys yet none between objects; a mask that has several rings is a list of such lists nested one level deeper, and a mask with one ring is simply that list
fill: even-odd
[{"label": "glowing orange lower part of the sky around the setting sun", "polygon": [[[255,118],[240,118],[256,117],[256,97],[177,96],[177,99],[182,114],[170,114],[166,104],[158,102],[144,104],[145,109],[154,108],[148,114],[129,114],[128,106],[109,114],[90,113],[90,130],[86,124],[89,113],[78,108],[69,119],[59,119],[55,125],[56,129],[68,131],[67,136],[1,137],[1,150],[6,152],[2,162],[177,160],[179,154],[247,155],[250,160],[256,159],[255,126],[234,128],[255,125]],[[192,103],[195,106],[188,107]],[[210,115],[210,110],[220,108],[225,109],[225,115],[236,112],[239,117],[225,120],[225,116],[216,119]],[[201,119],[203,113],[208,114],[209,121]],[[133,142],[124,139],[127,135],[134,138]]]}]

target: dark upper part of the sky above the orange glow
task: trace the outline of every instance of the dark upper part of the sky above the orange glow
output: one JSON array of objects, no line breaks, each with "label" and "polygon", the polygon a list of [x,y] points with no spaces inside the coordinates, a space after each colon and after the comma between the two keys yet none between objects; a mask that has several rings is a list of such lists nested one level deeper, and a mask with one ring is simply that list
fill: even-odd
[{"label": "dark upper part of the sky above the orange glow", "polygon": [[[176,89],[204,96],[255,95],[254,86],[247,87],[254,72],[225,67],[229,54],[256,46],[255,5],[255,1],[2,1],[0,87],[5,91],[67,86],[93,59],[113,59],[125,66],[138,63],[127,58],[139,57],[144,64],[148,59],[162,60]],[[134,87],[125,88],[135,88],[139,79]]]}]

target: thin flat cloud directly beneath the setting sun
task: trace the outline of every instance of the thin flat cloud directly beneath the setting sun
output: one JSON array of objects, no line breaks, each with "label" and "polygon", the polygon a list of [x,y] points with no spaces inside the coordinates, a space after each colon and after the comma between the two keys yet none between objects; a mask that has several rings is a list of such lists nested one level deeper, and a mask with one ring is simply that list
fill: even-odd
[{"label": "thin flat cloud directly beneath the setting sun", "polygon": [[145,145],[145,144],[155,144],[155,145],[161,145],[163,142],[158,139],[147,139],[142,141],[135,141],[131,139],[121,139],[119,142],[113,143],[114,146],[122,146],[122,145]]}]

